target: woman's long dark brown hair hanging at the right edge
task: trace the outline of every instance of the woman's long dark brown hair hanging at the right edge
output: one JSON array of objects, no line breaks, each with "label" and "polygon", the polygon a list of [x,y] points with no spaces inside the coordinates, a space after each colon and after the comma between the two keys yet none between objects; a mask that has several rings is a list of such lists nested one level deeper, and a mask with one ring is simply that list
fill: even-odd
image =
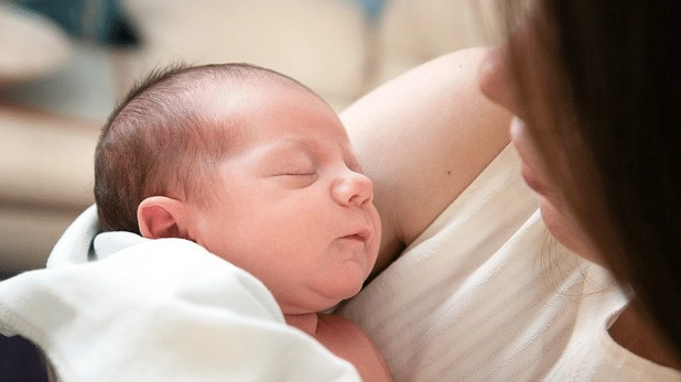
[{"label": "woman's long dark brown hair hanging at the right edge", "polygon": [[675,2],[538,0],[505,12],[523,118],[553,178],[638,308],[681,353]]}]

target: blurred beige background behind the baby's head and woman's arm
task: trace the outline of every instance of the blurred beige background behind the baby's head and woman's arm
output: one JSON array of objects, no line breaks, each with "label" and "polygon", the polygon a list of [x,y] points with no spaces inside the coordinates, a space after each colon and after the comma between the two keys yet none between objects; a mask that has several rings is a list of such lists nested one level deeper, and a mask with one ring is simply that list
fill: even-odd
[{"label": "blurred beige background behind the baby's head and woman's arm", "polygon": [[154,67],[249,62],[337,111],[498,40],[494,0],[0,0],[0,280],[44,266],[93,203],[99,128]]}]

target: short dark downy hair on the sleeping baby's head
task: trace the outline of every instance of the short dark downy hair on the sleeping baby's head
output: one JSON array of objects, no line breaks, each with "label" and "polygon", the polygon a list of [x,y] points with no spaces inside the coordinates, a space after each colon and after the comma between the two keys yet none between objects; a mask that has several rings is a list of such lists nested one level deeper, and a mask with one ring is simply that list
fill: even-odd
[{"label": "short dark downy hair on the sleeping baby's head", "polygon": [[[150,196],[206,194],[202,182],[238,142],[238,121],[213,118],[205,97],[244,81],[307,87],[249,64],[174,64],[151,72],[115,108],[95,150],[95,203],[101,231],[140,233],[137,209]],[[177,195],[181,193],[181,195]]]}]

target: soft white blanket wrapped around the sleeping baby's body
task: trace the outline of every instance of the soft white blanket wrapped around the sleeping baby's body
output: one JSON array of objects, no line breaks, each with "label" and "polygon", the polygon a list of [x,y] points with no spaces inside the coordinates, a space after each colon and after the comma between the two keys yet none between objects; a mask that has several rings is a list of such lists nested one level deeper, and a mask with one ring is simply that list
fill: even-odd
[{"label": "soft white blanket wrapped around the sleeping baby's body", "polygon": [[247,272],[181,239],[106,233],[93,251],[95,228],[90,208],[46,270],[0,283],[0,331],[31,339],[61,380],[359,381]]}]

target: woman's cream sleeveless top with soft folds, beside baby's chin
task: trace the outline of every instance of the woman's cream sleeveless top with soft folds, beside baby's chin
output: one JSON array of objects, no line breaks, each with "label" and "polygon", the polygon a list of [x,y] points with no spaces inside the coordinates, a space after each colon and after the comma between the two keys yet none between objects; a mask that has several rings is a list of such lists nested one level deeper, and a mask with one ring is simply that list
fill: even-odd
[{"label": "woman's cream sleeveless top with soft folds, beside baby's chin", "polygon": [[396,381],[681,381],[607,334],[627,298],[556,244],[507,148],[340,312]]}]

